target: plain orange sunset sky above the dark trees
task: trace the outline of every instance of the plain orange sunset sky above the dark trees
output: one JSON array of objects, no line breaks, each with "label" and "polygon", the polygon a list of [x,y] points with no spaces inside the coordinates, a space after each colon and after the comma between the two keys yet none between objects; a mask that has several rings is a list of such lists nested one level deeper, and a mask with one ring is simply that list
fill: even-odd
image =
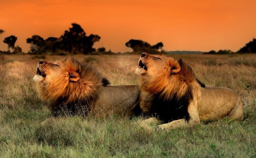
[{"label": "plain orange sunset sky above the dark trees", "polygon": [[165,50],[237,51],[256,38],[256,0],[1,0],[0,50],[15,35],[27,52],[33,34],[60,37],[78,23],[101,40],[94,45],[114,52],[131,51],[130,39]]}]

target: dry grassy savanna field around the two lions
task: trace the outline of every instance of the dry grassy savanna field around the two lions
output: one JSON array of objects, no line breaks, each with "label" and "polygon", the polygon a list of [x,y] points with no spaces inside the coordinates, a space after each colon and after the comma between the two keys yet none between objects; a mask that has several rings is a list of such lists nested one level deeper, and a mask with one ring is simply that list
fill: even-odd
[{"label": "dry grassy savanna field around the two lions", "polygon": [[[0,157],[256,157],[256,54],[172,55],[213,86],[238,92],[247,118],[227,118],[169,132],[143,129],[143,118],[49,118],[32,80],[38,61],[54,55],[0,55]],[[138,85],[140,55],[74,55],[95,66],[111,85]]]}]

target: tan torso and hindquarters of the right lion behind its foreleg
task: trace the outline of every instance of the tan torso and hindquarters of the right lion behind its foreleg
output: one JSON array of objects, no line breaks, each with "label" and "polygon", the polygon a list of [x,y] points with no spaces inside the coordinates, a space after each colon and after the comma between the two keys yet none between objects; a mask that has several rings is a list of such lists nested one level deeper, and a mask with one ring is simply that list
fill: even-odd
[{"label": "tan torso and hindquarters of the right lion behind its foreleg", "polygon": [[215,120],[229,116],[243,120],[243,104],[240,96],[224,87],[200,88],[198,114],[200,120]]}]

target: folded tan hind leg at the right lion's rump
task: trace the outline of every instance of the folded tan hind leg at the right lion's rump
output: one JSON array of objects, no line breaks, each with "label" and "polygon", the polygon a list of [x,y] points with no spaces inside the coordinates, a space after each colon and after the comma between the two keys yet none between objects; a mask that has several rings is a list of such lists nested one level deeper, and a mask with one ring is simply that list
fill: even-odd
[{"label": "folded tan hind leg at the right lion's rump", "polygon": [[233,107],[233,109],[229,113],[229,117],[234,120],[240,120],[243,121],[244,119],[244,107],[241,102],[241,98],[239,97],[236,101],[236,105]]}]

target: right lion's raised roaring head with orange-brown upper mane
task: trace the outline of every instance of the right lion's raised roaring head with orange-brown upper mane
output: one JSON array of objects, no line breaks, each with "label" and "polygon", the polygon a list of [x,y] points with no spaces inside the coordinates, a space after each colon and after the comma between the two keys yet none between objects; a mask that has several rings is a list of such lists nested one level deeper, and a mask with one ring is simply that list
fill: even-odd
[{"label": "right lion's raised roaring head with orange-brown upper mane", "polygon": [[[151,95],[165,99],[181,98],[193,85],[198,85],[192,69],[182,60],[162,55],[143,53],[135,71],[140,75],[140,86]],[[191,84],[195,83],[195,84]]]}]

